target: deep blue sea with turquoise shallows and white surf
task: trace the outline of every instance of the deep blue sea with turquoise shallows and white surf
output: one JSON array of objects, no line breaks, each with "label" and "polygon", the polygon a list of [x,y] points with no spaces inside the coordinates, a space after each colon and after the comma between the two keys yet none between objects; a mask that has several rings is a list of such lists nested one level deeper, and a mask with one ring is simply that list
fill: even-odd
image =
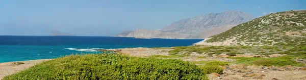
[{"label": "deep blue sea with turquoise shallows and white surf", "polygon": [[[94,49],[190,46],[202,39],[140,39],[104,36],[0,36],[0,63],[52,59]],[[78,50],[76,50],[78,49]]]}]

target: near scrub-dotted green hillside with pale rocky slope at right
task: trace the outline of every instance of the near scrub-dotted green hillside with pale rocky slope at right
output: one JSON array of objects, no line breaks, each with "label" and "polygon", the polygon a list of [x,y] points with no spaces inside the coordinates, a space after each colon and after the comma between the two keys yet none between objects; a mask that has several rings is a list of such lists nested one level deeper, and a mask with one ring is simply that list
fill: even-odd
[{"label": "near scrub-dotted green hillside with pale rocky slope at right", "polygon": [[195,45],[306,46],[306,10],[256,18]]}]

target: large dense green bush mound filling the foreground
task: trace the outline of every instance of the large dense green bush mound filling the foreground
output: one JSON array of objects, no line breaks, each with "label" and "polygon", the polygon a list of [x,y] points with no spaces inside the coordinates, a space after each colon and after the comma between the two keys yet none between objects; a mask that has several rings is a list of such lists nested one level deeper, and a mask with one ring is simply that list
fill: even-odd
[{"label": "large dense green bush mound filling the foreground", "polygon": [[42,62],[4,79],[207,79],[207,76],[198,66],[178,59],[77,54]]}]

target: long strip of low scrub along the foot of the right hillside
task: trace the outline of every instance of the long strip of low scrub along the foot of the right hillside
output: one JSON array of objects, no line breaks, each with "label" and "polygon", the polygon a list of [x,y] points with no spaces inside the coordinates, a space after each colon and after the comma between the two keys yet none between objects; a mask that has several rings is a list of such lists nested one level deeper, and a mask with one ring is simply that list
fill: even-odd
[{"label": "long strip of low scrub along the foot of the right hillside", "polygon": [[306,55],[306,47],[302,46],[187,46],[173,47],[169,51],[170,55],[182,53],[188,55],[191,53],[207,54],[226,54],[228,56],[236,56],[237,54],[252,53],[256,55],[271,55],[271,54],[287,54],[287,55]]}]

